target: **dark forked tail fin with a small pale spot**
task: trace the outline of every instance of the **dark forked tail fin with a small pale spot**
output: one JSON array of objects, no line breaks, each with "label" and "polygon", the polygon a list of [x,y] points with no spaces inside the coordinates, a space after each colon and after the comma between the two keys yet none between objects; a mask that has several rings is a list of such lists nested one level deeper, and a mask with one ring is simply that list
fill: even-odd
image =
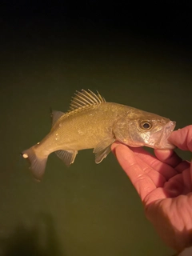
[{"label": "dark forked tail fin with a small pale spot", "polygon": [[44,158],[38,158],[35,154],[34,146],[32,146],[28,150],[22,151],[22,157],[26,158],[30,162],[30,170],[34,175],[34,178],[41,181],[46,169],[47,156]]}]

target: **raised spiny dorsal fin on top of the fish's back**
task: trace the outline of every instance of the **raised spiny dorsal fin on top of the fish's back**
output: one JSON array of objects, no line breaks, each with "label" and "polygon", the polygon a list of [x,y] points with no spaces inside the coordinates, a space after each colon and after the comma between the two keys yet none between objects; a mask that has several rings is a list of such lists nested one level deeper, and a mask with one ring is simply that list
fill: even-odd
[{"label": "raised spiny dorsal fin on top of the fish's back", "polygon": [[94,94],[91,90],[83,90],[76,91],[75,96],[72,98],[70,102],[70,110],[77,110],[78,108],[82,108],[85,106],[93,106],[99,105],[106,102],[105,98],[103,98],[97,91],[97,94]]}]

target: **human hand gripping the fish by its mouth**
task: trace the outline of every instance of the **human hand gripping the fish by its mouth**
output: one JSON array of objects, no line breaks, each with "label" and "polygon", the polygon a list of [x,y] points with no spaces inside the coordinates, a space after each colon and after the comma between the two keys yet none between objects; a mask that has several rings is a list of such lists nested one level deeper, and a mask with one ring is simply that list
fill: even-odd
[{"label": "human hand gripping the fish by its mouth", "polygon": [[[169,141],[192,151],[192,125],[170,134]],[[130,148],[114,142],[112,150],[129,176],[164,242],[181,251],[192,245],[192,164],[173,150]]]}]

